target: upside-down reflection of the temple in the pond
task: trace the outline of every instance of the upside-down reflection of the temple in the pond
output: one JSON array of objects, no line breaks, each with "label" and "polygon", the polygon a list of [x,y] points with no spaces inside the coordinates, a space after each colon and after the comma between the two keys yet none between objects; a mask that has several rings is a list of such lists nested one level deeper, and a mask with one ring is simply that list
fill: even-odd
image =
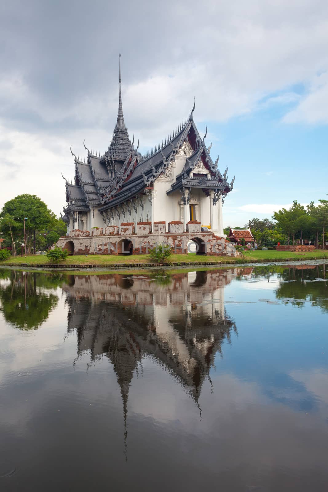
[{"label": "upside-down reflection of the temple in the pond", "polygon": [[238,269],[172,276],[70,277],[68,331],[78,356],[106,356],[126,405],[133,373],[144,356],[168,370],[197,402],[201,386],[234,322],[224,310],[224,286]]}]

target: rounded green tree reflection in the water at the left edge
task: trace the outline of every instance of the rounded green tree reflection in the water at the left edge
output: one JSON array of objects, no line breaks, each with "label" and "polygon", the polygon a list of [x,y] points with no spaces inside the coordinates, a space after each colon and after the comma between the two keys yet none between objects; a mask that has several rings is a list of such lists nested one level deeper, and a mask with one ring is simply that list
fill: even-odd
[{"label": "rounded green tree reflection in the water at the left edge", "polygon": [[0,288],[0,310],[4,318],[23,330],[38,328],[58,304],[58,296],[44,288],[57,287],[62,282],[59,274],[10,271],[6,278],[9,283]]}]

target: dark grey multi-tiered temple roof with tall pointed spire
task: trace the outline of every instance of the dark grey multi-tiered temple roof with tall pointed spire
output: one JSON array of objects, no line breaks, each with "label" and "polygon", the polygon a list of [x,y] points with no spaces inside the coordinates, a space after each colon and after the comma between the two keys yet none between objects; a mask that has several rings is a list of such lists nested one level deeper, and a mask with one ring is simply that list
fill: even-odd
[{"label": "dark grey multi-tiered temple roof with tall pointed spire", "polygon": [[[172,193],[182,187],[199,187],[208,193],[214,190],[216,197],[223,198],[232,190],[234,180],[227,182],[227,170],[222,175],[217,168],[218,157],[215,162],[209,155],[209,148],[205,145],[205,137],[201,138],[194,119],[195,104],[184,122],[171,133],[162,143],[145,155],[138,153],[134,148],[134,139],[131,143],[124,123],[121,76],[119,63],[119,111],[114,135],[108,150],[100,156],[88,151],[87,162],[76,157],[74,184],[66,181],[65,214],[72,211],[89,211],[92,206],[100,206],[99,212],[115,207],[126,200],[130,200],[145,189],[151,188],[174,160],[184,142],[190,144],[192,155],[186,159],[182,172],[172,183],[167,193]],[[72,151],[71,151],[72,152]],[[201,162],[208,175],[193,175],[193,169]]]}]

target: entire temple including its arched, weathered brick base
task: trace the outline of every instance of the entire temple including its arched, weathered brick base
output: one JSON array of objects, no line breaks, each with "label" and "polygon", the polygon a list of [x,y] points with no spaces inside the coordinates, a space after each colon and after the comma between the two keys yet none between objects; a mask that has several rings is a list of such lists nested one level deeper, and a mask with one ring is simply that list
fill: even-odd
[{"label": "entire temple including its arched, weathered brick base", "polygon": [[[219,157],[213,162],[211,144],[205,144],[207,129],[201,137],[194,110],[195,102],[189,116],[168,137],[140,154],[139,140],[135,147],[124,122],[119,58],[119,110],[114,135],[103,155],[89,150],[85,142],[87,158],[76,156],[71,149],[75,176],[74,184],[62,176],[67,202],[63,220],[67,223],[67,236],[79,240],[61,239],[58,245],[71,254],[89,254],[94,248],[103,254],[120,254],[119,236],[136,234],[144,235],[137,246],[126,241],[123,246],[129,246],[130,254],[138,248],[143,253],[148,234],[164,234],[157,239],[153,236],[152,244],[161,242],[173,248],[175,239],[168,234],[189,233],[190,237],[179,241],[179,247],[186,251],[182,243],[194,241],[191,236],[203,232],[207,236],[198,235],[194,241],[197,250],[235,256],[235,248],[224,242],[222,222],[222,205],[233,189],[235,177],[228,183],[228,168],[221,174],[217,167]],[[100,246],[104,241],[93,246],[87,238],[94,236],[111,237],[111,243],[105,241],[105,248]],[[222,243],[215,249],[218,238]]]}]

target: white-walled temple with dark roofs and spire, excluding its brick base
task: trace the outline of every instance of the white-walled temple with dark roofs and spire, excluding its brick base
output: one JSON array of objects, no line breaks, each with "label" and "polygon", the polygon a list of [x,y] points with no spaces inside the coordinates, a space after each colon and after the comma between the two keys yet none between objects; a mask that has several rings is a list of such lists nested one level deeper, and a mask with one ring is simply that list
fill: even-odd
[{"label": "white-walled temple with dark roofs and spire, excluding its brick base", "polygon": [[[120,59],[119,59],[120,61]],[[74,184],[65,180],[64,220],[68,232],[91,230],[121,222],[189,220],[223,236],[222,204],[233,182],[227,170],[220,173],[218,157],[213,162],[205,137],[201,137],[192,108],[187,117],[159,145],[142,155],[130,141],[125,126],[119,64],[119,110],[108,150],[100,155],[88,151],[87,158],[74,156]]]}]

